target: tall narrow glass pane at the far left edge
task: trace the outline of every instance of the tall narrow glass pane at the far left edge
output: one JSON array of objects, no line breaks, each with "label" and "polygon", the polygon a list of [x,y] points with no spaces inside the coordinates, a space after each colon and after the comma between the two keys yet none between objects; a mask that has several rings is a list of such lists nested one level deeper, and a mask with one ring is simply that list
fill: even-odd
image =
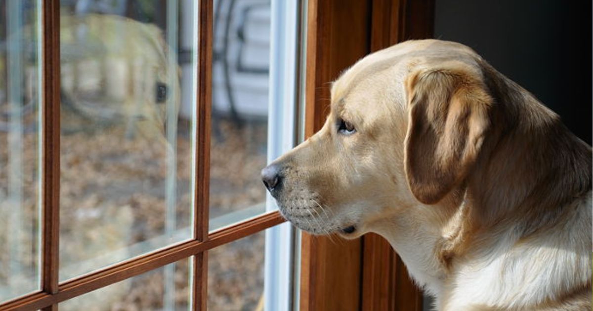
[{"label": "tall narrow glass pane at the far left edge", "polygon": [[39,289],[39,1],[0,1],[0,301]]}]

